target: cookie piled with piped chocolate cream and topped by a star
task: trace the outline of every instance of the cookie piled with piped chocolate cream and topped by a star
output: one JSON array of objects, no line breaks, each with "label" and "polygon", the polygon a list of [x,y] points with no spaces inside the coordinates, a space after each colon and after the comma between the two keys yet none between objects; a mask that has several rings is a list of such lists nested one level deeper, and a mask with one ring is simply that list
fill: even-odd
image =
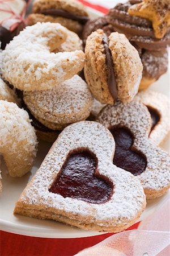
[{"label": "cookie piled with piped chocolate cream and topped by a star", "polygon": [[[107,15],[107,22],[114,31],[124,33],[139,51],[143,64],[139,89],[146,89],[167,71],[167,46],[170,44],[168,2],[132,0],[118,3]],[[159,32],[155,32],[154,24],[159,25],[162,38],[158,36]]]}]

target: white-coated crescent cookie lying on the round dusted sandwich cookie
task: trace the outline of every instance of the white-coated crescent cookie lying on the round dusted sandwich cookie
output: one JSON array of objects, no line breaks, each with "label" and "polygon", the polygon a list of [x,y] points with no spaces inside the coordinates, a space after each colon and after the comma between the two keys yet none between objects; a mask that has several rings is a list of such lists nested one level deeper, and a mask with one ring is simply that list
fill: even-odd
[{"label": "white-coated crescent cookie lying on the round dusted sandwich cookie", "polygon": [[20,32],[2,52],[2,75],[20,90],[47,90],[84,67],[83,51],[52,52],[67,38],[58,23],[37,23]]}]

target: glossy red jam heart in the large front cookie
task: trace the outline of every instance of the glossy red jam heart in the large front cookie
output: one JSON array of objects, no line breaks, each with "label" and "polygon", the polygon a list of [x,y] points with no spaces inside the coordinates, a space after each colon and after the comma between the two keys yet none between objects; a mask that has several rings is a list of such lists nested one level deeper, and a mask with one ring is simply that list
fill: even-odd
[{"label": "glossy red jam heart in the large front cookie", "polygon": [[113,185],[97,171],[97,158],[90,151],[76,150],[67,156],[49,192],[88,203],[102,204],[112,195]]}]

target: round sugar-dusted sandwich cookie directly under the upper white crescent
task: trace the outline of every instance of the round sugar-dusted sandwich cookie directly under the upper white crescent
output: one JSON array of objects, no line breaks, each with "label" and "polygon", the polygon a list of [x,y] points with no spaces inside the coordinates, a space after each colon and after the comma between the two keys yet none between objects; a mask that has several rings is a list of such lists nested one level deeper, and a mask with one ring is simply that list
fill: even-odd
[{"label": "round sugar-dusted sandwich cookie directly under the upper white crescent", "polygon": [[23,100],[32,115],[52,130],[85,120],[93,103],[86,82],[78,75],[50,90],[24,92]]}]

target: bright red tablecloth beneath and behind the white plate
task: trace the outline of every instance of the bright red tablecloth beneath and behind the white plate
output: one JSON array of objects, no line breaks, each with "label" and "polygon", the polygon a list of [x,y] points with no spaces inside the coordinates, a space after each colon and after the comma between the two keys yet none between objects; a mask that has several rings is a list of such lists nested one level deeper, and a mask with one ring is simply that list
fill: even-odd
[{"label": "bright red tablecloth beneath and behind the white plate", "polygon": [[[80,0],[80,2],[103,13],[108,12],[108,9],[103,6],[92,5],[84,0]],[[135,229],[137,226],[138,224],[135,224],[130,229]],[[1,232],[1,256],[70,256],[103,241],[111,235],[112,233],[86,238],[51,239]]]}]

